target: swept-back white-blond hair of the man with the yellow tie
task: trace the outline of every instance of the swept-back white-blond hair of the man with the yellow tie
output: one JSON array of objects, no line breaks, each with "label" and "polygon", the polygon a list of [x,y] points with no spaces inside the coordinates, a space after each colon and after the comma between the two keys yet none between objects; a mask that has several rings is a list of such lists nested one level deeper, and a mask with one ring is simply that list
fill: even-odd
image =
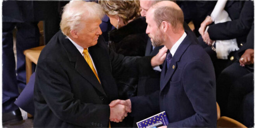
[{"label": "swept-back white-blond hair of the man with the yellow tie", "polygon": [[64,6],[60,23],[61,31],[69,36],[71,30],[80,31],[85,27],[81,22],[102,19],[104,15],[98,3],[72,0]]}]

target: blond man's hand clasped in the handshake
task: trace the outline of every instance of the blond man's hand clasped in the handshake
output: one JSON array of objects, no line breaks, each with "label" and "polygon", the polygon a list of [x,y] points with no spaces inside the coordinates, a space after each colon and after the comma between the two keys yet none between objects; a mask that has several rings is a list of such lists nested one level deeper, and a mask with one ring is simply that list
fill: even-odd
[{"label": "blond man's hand clasped in the handshake", "polygon": [[131,112],[131,108],[122,104],[114,104],[114,103],[111,104],[111,103],[109,104],[110,106],[109,120],[117,123],[122,122],[123,119],[125,119],[125,117],[127,116],[127,113]]}]

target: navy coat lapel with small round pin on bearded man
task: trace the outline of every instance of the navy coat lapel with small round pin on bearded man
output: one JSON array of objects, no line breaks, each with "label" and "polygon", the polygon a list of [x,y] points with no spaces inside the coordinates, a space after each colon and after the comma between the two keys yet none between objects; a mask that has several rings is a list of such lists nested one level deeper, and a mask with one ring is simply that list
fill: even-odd
[{"label": "navy coat lapel with small round pin on bearded man", "polygon": [[177,62],[180,61],[180,58],[182,57],[183,53],[189,47],[190,44],[191,44],[191,41],[190,41],[189,35],[187,35],[183,40],[183,42],[178,47],[178,49],[176,50],[173,58],[171,59],[171,64],[169,69],[167,69],[166,61],[164,62],[163,71],[161,72],[161,81],[163,82],[160,82],[160,91],[162,91],[164,87],[167,85],[167,83],[171,81],[170,79],[177,68]]}]

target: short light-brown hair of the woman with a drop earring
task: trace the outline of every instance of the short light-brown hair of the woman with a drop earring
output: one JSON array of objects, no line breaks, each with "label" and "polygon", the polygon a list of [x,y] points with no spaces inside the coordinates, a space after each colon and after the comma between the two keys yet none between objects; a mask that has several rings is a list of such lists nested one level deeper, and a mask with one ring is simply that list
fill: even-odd
[{"label": "short light-brown hair of the woman with a drop earring", "polygon": [[117,15],[125,24],[140,16],[138,0],[99,0],[99,4],[107,15]]}]

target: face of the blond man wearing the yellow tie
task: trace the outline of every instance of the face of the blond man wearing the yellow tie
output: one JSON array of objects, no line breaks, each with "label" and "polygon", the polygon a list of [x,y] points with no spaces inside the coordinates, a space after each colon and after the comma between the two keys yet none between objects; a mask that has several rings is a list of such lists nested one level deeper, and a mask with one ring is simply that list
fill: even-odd
[{"label": "face of the blond man wearing the yellow tie", "polygon": [[101,20],[88,20],[86,22],[81,22],[85,24],[80,31],[77,32],[77,42],[83,48],[88,48],[97,44],[99,35],[102,34],[100,30]]}]

